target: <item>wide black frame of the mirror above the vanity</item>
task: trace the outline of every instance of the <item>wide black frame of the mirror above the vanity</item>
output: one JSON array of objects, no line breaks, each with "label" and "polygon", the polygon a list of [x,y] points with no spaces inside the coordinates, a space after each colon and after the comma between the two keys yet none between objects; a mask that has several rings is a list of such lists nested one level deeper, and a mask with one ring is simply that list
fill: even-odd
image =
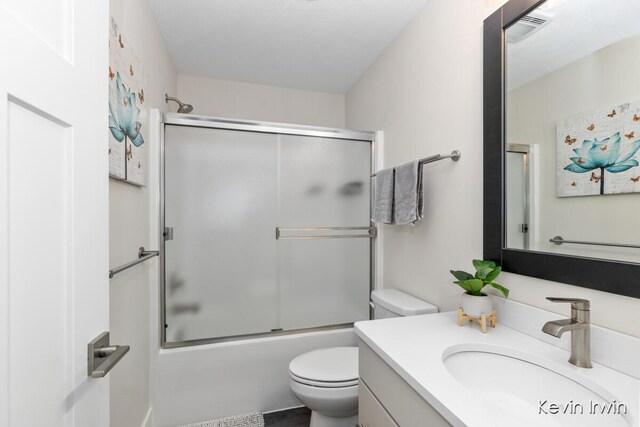
[{"label": "wide black frame of the mirror above the vanity", "polygon": [[505,249],[504,31],[544,0],[510,0],[484,21],[484,259],[504,271],[640,298],[640,264]]}]

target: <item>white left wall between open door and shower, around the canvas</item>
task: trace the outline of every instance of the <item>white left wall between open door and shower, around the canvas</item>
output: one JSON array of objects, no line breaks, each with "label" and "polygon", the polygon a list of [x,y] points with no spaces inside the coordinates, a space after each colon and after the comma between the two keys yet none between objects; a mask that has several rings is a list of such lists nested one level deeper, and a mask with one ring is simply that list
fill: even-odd
[{"label": "white left wall between open door and shower, around the canvas", "polygon": [[[176,92],[176,72],[148,2],[110,0],[110,10],[126,40],[145,65],[148,106],[164,109],[164,93]],[[136,259],[140,246],[156,249],[149,245],[151,189],[151,186],[138,188],[109,180],[109,263],[112,267]],[[151,406],[149,289],[156,284],[150,284],[149,270],[156,265],[157,261],[153,260],[111,279],[111,339],[117,344],[131,345],[129,354],[109,374],[113,426],[141,426]]]}]

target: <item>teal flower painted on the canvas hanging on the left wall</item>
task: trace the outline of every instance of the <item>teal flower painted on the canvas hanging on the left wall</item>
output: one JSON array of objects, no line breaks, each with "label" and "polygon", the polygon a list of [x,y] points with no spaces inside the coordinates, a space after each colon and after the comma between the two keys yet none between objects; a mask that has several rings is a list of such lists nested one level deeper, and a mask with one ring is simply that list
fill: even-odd
[{"label": "teal flower painted on the canvas hanging on the left wall", "polygon": [[109,100],[109,130],[118,142],[123,142],[125,147],[130,141],[136,147],[144,144],[142,137],[142,123],[138,121],[140,109],[136,106],[136,93],[128,89],[116,74],[116,105]]}]

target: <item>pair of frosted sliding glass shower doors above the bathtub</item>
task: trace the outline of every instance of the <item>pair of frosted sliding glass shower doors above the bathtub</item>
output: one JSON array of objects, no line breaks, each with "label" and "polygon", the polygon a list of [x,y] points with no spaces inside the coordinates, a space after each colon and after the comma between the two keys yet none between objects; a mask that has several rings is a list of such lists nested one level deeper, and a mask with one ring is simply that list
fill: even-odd
[{"label": "pair of frosted sliding glass shower doors above the bathtub", "polygon": [[371,141],[165,126],[167,344],[369,318]]}]

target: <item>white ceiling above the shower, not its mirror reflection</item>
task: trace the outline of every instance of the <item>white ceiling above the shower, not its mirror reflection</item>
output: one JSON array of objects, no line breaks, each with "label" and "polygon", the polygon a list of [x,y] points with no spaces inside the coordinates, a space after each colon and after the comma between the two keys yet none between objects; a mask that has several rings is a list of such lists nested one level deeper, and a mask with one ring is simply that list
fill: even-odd
[{"label": "white ceiling above the shower, not its mirror reflection", "polygon": [[178,73],[346,92],[427,0],[149,0]]}]

